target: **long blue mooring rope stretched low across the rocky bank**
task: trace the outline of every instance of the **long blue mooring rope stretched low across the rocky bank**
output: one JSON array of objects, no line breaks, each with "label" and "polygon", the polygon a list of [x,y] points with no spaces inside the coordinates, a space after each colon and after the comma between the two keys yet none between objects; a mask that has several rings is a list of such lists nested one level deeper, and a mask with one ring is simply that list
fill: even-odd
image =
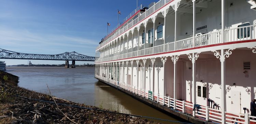
[{"label": "long blue mooring rope stretched low across the rocky bank", "polygon": [[[27,98],[27,97],[24,97],[24,96],[19,96],[19,95],[16,95],[16,96],[19,97],[19,98],[23,98],[23,99],[29,99],[29,100],[33,100],[33,101],[40,101],[40,102],[55,104],[54,102],[50,102],[50,101],[44,101],[44,100],[39,100],[39,99],[32,99],[32,98]],[[193,123],[186,123],[186,122],[180,122],[180,121],[172,121],[172,120],[159,119],[159,118],[153,118],[153,117],[139,116],[139,115],[135,115],[135,114],[127,114],[127,113],[120,113],[120,112],[114,112],[114,111],[100,110],[100,109],[95,109],[95,108],[87,108],[87,107],[81,107],[81,106],[74,106],[74,105],[69,105],[69,104],[62,104],[62,103],[57,103],[57,104],[58,105],[63,105],[63,106],[75,107],[75,108],[96,110],[96,111],[109,112],[109,113],[115,113],[115,114],[123,114],[123,115],[127,115],[127,116],[134,116],[134,117],[140,117],[140,118],[148,118],[148,119],[155,119],[155,120],[162,120],[162,121],[169,121],[169,122],[183,123],[183,124],[193,124]]]}]

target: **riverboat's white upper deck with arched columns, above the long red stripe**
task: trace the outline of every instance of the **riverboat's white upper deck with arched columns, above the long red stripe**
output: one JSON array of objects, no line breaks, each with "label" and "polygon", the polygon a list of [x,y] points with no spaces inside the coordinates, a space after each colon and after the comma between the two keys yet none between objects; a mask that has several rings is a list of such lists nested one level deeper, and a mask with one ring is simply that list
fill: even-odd
[{"label": "riverboat's white upper deck with arched columns, above the long red stripe", "polygon": [[191,4],[193,7],[191,1],[158,1],[101,43],[95,62],[255,41],[256,11],[251,3],[227,0],[223,28],[221,1],[197,0],[195,12]]}]

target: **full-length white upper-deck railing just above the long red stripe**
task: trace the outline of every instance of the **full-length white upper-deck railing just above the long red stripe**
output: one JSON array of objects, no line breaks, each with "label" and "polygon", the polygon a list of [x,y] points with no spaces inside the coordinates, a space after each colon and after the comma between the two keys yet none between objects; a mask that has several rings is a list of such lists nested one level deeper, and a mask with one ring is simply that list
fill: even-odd
[{"label": "full-length white upper-deck railing just above the long red stripe", "polygon": [[[224,31],[225,42],[256,39],[255,28],[256,28],[256,25],[250,25],[250,26],[244,26],[239,28],[226,29]],[[247,31],[247,32],[244,32],[244,31]],[[206,45],[223,43],[223,41],[221,41],[221,35],[222,35],[221,31],[210,32],[207,34],[195,36],[195,41],[193,41],[193,37],[190,37],[183,40],[178,40],[176,41],[176,44],[175,42],[169,42],[169,43],[166,43],[165,45],[159,45],[151,48],[142,49],[139,51],[133,51],[128,54],[123,52],[120,52],[121,55],[118,55],[119,53],[110,54],[110,55],[107,55],[109,56],[108,58],[107,57],[97,58],[95,62],[99,63],[103,61],[123,59],[127,57],[151,55],[156,53],[170,52],[175,50],[182,50],[182,49],[188,49],[193,47],[196,48],[196,47],[201,47]]]}]

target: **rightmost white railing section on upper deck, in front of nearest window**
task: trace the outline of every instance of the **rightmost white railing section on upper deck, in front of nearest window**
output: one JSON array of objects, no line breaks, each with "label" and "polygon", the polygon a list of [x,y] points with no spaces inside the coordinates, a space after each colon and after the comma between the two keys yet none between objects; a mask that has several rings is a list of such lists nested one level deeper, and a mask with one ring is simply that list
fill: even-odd
[{"label": "rightmost white railing section on upper deck, in front of nearest window", "polygon": [[256,25],[243,26],[224,30],[225,42],[255,39]]}]

